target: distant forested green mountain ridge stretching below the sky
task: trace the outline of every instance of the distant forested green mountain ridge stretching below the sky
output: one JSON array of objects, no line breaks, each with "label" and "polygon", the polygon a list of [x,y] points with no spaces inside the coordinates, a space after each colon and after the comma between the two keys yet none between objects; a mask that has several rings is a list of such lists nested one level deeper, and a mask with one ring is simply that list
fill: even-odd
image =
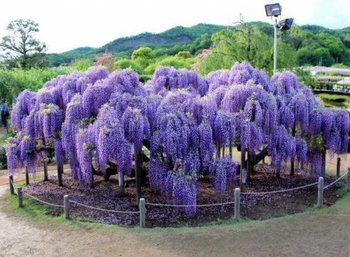
[{"label": "distant forested green mountain ridge stretching below the sky", "polygon": [[[248,22],[248,24],[258,27],[268,36],[273,36],[272,24],[267,22]],[[350,47],[350,27],[328,29],[318,25],[302,25],[300,28],[315,35],[320,33],[330,34],[340,38],[346,47]],[[176,54],[181,50],[189,50],[192,54],[197,54],[210,47],[212,34],[223,29],[227,29],[227,27],[203,23],[193,27],[178,26],[159,34],[145,32],[136,36],[118,38],[102,47],[78,47],[60,54],[48,54],[48,57],[51,66],[59,66],[60,64],[69,64],[77,59],[94,60],[94,57],[103,54],[106,49],[119,59],[131,57],[132,52],[141,46],[148,46],[153,50],[157,50],[158,56]]]}]

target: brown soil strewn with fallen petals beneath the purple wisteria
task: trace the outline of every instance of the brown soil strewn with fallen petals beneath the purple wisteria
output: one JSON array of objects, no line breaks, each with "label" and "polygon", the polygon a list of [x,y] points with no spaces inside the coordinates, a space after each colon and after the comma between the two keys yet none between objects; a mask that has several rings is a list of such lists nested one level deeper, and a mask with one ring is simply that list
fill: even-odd
[{"label": "brown soil strewn with fallen petals beneath the purple wisteria", "polygon": [[[314,177],[307,177],[303,172],[297,172],[294,177],[288,175],[288,170],[282,171],[282,178],[275,179],[274,171],[269,166],[257,166],[256,173],[251,182],[246,184],[247,192],[275,191],[290,189],[305,184],[315,182]],[[71,179],[69,175],[64,175],[64,186],[58,187],[55,178],[49,182],[36,182],[25,188],[25,192],[45,200],[49,203],[62,205],[63,196],[69,195],[71,200],[78,203],[84,203],[94,207],[106,210],[138,211],[136,205],[134,181],[127,181],[125,196],[120,196],[116,176],[111,177],[110,182],[105,182],[102,177],[95,176],[95,188],[83,189],[78,183]],[[325,178],[329,183],[330,178]],[[158,193],[153,193],[149,186],[143,187],[146,203],[169,203]],[[337,200],[335,186],[325,190],[325,205],[332,205]],[[197,195],[197,204],[207,203],[225,203],[232,202],[234,199],[234,187],[226,193],[218,194],[209,180],[200,182]],[[311,186],[297,191],[288,191],[284,193],[272,193],[265,195],[242,195],[241,196],[241,216],[248,219],[269,219],[287,214],[303,212],[309,207],[314,207],[317,199],[317,186]],[[40,204],[40,203],[38,203]],[[102,212],[91,210],[71,203],[71,217],[73,219],[87,219],[97,223],[118,224],[120,226],[138,226],[139,214],[115,214],[111,212]],[[176,226],[198,226],[203,223],[210,223],[218,219],[229,219],[233,215],[234,205],[197,207],[195,216],[188,217],[183,212],[182,207],[158,207],[146,205],[146,224],[148,227],[176,227]],[[62,214],[62,208],[52,207],[50,216],[59,216]]]}]

